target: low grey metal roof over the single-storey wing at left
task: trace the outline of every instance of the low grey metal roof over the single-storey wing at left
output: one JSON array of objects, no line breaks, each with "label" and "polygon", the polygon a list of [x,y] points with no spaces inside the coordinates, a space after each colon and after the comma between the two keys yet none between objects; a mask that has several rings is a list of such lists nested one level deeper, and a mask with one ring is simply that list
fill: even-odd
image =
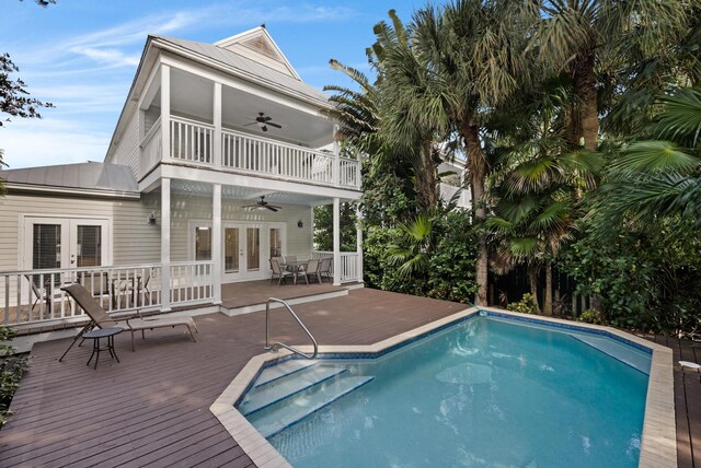
[{"label": "low grey metal roof over the single-storey wing at left", "polygon": [[[8,185],[139,194],[129,166],[79,163],[0,171]],[[19,187],[18,187],[19,188]]]}]

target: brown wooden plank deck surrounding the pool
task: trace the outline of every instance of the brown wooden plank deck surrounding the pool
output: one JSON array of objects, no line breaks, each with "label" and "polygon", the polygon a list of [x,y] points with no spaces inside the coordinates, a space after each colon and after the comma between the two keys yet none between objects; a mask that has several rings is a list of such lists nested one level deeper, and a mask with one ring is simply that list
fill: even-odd
[{"label": "brown wooden plank deck surrounding the pool", "polygon": [[[278,291],[294,292],[285,288]],[[368,289],[295,306],[321,344],[375,343],[463,308]],[[287,314],[273,314],[272,338],[307,343]],[[0,431],[0,466],[252,466],[209,406],[263,352],[264,314],[209,314],[195,321],[196,343],[184,330],[158,329],[131,352],[129,335],[122,334],[115,340],[122,363],[103,354],[96,371],[85,365],[89,346],[58,363],[70,340],[35,344],[14,414]],[[650,339],[671,347],[675,361],[700,361],[701,349],[690,342]],[[675,368],[680,467],[701,468],[699,376]]]}]

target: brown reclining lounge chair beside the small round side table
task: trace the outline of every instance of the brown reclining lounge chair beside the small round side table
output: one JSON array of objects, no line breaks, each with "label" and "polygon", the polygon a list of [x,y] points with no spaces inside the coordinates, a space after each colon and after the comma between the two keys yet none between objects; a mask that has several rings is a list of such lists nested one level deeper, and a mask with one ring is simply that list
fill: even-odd
[{"label": "brown reclining lounge chair beside the small round side table", "polygon": [[73,344],[76,344],[76,341],[82,338],[84,334],[92,330],[94,327],[97,327],[97,328],[119,327],[119,323],[122,321],[124,321],[124,324],[126,325],[126,328],[128,328],[129,331],[131,331],[131,351],[135,350],[134,332],[137,330],[141,330],[141,338],[146,339],[146,336],[143,334],[146,329],[152,330],[154,328],[163,328],[163,327],[175,328],[182,325],[187,327],[187,331],[189,331],[189,336],[192,337],[193,341],[197,341],[195,339],[195,335],[193,334],[193,329],[197,332],[199,332],[199,330],[197,329],[197,325],[195,325],[195,320],[193,320],[193,317],[174,317],[174,316],[142,317],[137,311],[136,317],[115,319],[115,318],[112,318],[110,315],[107,315],[107,313],[105,312],[104,308],[102,308],[100,303],[95,301],[95,299],[92,295],[90,295],[90,291],[88,291],[81,284],[71,284],[69,286],[61,288],[61,290],[66,291],[73,299],[73,301],[76,301],[76,304],[78,304],[83,311],[85,311],[85,314],[88,314],[88,316],[90,317],[90,323],[85,325],[83,329],[78,332],[76,338],[73,338],[73,342],[70,344],[70,347],[68,347],[68,349],[66,350],[64,355],[59,359],[59,361],[62,360],[64,356],[66,356],[68,351],[70,351]]}]

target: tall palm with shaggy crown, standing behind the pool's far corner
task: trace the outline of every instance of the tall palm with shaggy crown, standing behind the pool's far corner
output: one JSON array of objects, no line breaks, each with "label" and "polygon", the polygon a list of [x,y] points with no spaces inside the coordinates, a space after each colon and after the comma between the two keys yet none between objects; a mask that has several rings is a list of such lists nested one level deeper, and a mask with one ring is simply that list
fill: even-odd
[{"label": "tall palm with shaggy crown, standing behind the pool's far corner", "polygon": [[[526,16],[508,0],[458,0],[414,14],[416,55],[428,67],[432,113],[450,121],[468,160],[474,220],[486,218],[485,178],[490,171],[480,140],[485,115],[527,80],[522,52]],[[440,107],[439,107],[440,105]],[[480,238],[476,303],[487,303],[489,251]]]}]

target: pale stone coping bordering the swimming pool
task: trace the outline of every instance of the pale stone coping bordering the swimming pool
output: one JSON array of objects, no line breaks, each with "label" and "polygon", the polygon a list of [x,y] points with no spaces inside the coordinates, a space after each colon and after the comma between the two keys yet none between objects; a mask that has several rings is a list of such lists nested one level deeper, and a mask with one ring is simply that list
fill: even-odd
[{"label": "pale stone coping bordering the swimming pool", "polygon": [[[675,420],[674,360],[671,349],[653,343],[634,335],[611,327],[573,323],[545,316],[530,316],[508,312],[496,307],[470,307],[412,330],[395,335],[374,344],[321,346],[319,354],[335,354],[372,358],[386,354],[403,344],[409,344],[425,335],[439,331],[450,325],[463,321],[484,311],[495,316],[507,316],[519,321],[533,321],[553,325],[556,328],[579,329],[596,335],[610,336],[620,341],[652,351],[647,396],[645,399],[645,419],[641,437],[639,467],[676,467],[677,430]],[[300,347],[311,352],[311,347]],[[209,410],[217,417],[227,432],[243,452],[261,468],[291,467],[291,465],[263,437],[257,430],[234,407],[253,385],[261,371],[275,362],[291,356],[290,351],[263,353],[251,358],[231,384],[219,395]]]}]

